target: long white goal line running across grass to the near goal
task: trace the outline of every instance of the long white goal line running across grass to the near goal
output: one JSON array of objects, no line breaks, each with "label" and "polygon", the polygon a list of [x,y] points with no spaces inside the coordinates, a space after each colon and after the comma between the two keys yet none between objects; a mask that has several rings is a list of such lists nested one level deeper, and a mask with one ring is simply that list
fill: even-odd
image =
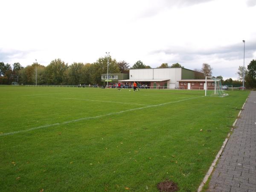
[{"label": "long white goal line running across grass to the near goal", "polygon": [[66,122],[62,122],[62,123],[54,123],[54,124],[50,124],[50,125],[42,125],[42,126],[39,126],[39,127],[34,127],[34,128],[26,129],[26,130],[20,130],[20,131],[13,131],[13,132],[9,132],[9,133],[3,133],[3,134],[0,134],[0,137],[1,136],[6,136],[6,135],[18,134],[18,133],[27,132],[27,131],[32,131],[32,130],[41,129],[41,128],[48,128],[48,127],[52,127],[52,126],[56,126],[56,125],[65,125],[65,124],[68,124],[68,123],[78,122],[78,121],[87,120],[87,119],[98,119],[98,118],[105,117],[105,116],[118,115],[118,114],[121,114],[121,113],[130,112],[130,111],[136,111],[136,110],[145,109],[145,108],[158,107],[158,106],[162,106],[162,105],[168,105],[168,104],[171,104],[171,103],[182,102],[182,101],[186,101],[186,100],[190,100],[190,99],[198,99],[198,98],[202,98],[202,97],[205,97],[205,96],[192,97],[192,98],[189,98],[189,99],[182,99],[182,100],[179,100],[179,101],[161,103],[161,104],[157,104],[157,105],[149,105],[149,106],[145,106],[145,107],[141,107],[141,108],[134,108],[134,109],[128,109],[128,110],[125,110],[125,111],[108,113],[108,114],[105,114],[105,115],[89,116],[89,117],[84,117],[84,118],[80,118],[80,119],[74,119],[74,120],[66,121]]}]

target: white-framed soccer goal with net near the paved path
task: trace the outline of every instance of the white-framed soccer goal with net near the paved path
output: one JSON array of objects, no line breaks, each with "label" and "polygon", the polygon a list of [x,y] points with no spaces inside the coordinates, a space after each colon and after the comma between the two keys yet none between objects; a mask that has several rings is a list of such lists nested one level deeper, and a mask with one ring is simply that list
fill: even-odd
[{"label": "white-framed soccer goal with net near the paved path", "polygon": [[225,90],[222,89],[221,86],[221,79],[216,79],[214,77],[205,77],[205,96],[219,96],[224,97],[228,96],[227,93],[225,93]]}]

